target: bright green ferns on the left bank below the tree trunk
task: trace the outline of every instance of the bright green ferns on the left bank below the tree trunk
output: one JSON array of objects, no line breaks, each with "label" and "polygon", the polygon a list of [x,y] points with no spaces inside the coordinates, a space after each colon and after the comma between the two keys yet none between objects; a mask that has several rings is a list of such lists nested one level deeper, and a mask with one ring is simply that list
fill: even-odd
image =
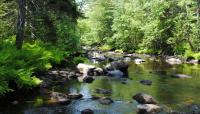
[{"label": "bright green ferns on the left bank below the tree trunk", "polygon": [[41,80],[33,73],[46,71],[68,56],[65,51],[40,41],[25,43],[21,50],[17,50],[11,39],[0,43],[0,95],[13,90],[8,86],[10,81],[14,81],[18,88],[39,85]]}]

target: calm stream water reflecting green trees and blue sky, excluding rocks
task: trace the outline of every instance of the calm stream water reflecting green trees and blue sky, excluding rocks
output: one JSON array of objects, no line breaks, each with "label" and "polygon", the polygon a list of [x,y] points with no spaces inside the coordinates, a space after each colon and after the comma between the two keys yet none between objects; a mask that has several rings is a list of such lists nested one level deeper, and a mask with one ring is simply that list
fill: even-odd
[{"label": "calm stream water reflecting green trees and blue sky, excluding rocks", "polygon": [[[172,78],[171,74],[176,73],[187,74],[192,78]],[[153,84],[142,85],[140,80],[143,79],[151,80]],[[91,100],[92,95],[104,96],[94,93],[97,88],[112,90],[112,94],[106,96],[111,97],[114,103],[101,105],[98,100]],[[130,62],[129,79],[97,77],[92,84],[71,80],[64,86],[55,86],[51,90],[81,93],[84,97],[66,106],[55,106],[46,103],[47,99],[42,90],[33,91],[34,94],[20,98],[17,105],[5,101],[5,104],[1,104],[0,114],[80,114],[81,110],[87,108],[94,110],[95,114],[135,114],[137,102],[132,100],[132,96],[140,92],[152,95],[163,107],[187,112],[190,110],[185,107],[200,104],[200,66],[171,66],[150,60],[139,65]]]}]

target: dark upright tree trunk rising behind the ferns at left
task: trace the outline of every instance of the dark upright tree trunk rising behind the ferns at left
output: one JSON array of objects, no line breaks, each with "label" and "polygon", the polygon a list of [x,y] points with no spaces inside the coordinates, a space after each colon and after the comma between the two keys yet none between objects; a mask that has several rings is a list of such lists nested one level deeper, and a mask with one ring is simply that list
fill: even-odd
[{"label": "dark upright tree trunk rising behind the ferns at left", "polygon": [[25,0],[17,0],[18,10],[18,22],[17,22],[17,35],[16,35],[16,48],[21,49],[24,40],[24,24],[25,24]]}]

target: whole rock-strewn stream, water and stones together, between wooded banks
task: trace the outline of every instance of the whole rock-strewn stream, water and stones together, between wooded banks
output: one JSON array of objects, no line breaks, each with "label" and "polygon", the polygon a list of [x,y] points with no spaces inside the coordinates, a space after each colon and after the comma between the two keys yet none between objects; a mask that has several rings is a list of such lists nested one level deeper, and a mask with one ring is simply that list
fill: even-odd
[{"label": "whole rock-strewn stream, water and stones together, between wooded banks", "polygon": [[198,62],[86,52],[89,63],[50,70],[39,90],[4,101],[0,114],[200,113]]}]

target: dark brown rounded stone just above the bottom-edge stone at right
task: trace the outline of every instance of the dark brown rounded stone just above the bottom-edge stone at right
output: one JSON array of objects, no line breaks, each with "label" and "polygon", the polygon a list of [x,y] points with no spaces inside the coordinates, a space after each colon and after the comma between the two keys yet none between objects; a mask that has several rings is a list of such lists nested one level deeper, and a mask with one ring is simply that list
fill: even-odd
[{"label": "dark brown rounded stone just above the bottom-edge stone at right", "polygon": [[138,93],[134,95],[133,99],[140,104],[157,104],[157,101],[151,95],[144,93]]}]

